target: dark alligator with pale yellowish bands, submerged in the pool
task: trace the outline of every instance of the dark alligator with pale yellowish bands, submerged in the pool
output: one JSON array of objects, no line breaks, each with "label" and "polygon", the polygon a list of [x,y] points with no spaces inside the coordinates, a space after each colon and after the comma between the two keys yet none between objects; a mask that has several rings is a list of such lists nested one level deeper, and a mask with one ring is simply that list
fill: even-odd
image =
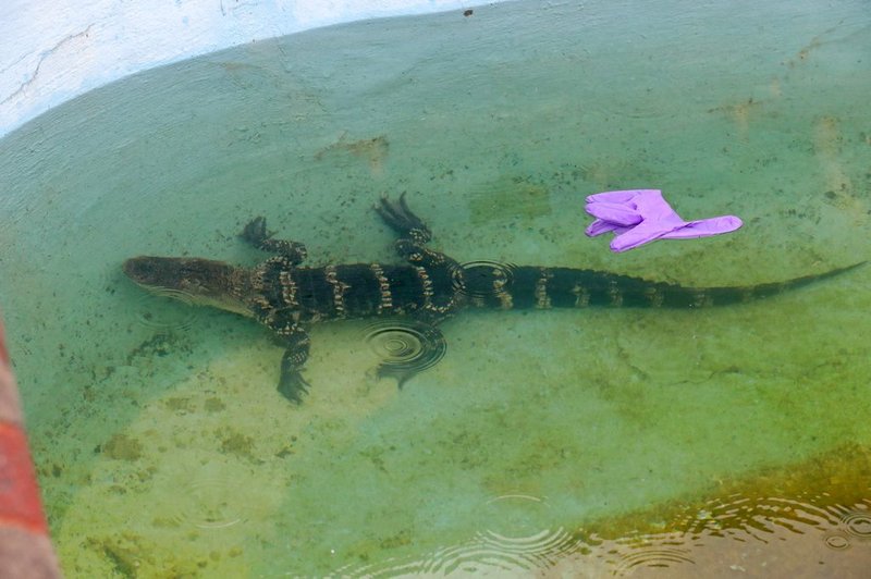
[{"label": "dark alligator with pale yellowish bands, submerged in the pool", "polygon": [[[375,210],[392,229],[404,264],[349,263],[304,267],[303,244],[277,239],[266,219],[252,220],[241,237],[274,254],[255,268],[187,257],[139,256],[123,264],[138,285],[254,318],[284,347],[279,392],[300,403],[309,384],[302,370],[308,358],[308,328],[327,320],[410,317],[429,343],[443,342],[438,324],[464,308],[586,308],[594,306],[698,308],[740,304],[831,278],[864,262],[752,286],[686,287],[604,271],[565,267],[461,264],[428,246],[429,227],[409,208],[405,195],[382,197]],[[379,366],[400,386],[420,368]]]}]

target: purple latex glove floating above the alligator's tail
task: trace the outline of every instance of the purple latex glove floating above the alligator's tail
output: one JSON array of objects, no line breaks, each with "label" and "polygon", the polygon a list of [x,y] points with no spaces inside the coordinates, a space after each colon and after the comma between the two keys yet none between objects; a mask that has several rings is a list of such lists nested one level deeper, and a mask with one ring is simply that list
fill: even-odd
[{"label": "purple latex glove floating above the alligator's tail", "polygon": [[587,197],[587,212],[596,218],[587,235],[610,231],[614,251],[626,251],[655,239],[689,239],[735,231],[743,225],[735,215],[684,221],[659,189],[612,190]]}]

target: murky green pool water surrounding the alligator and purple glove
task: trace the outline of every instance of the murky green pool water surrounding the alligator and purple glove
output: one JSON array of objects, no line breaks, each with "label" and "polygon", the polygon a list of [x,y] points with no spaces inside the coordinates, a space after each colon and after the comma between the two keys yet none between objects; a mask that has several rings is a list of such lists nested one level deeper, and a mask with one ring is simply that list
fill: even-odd
[{"label": "murky green pool water surrounding the alligator and purple glove", "polygon": [[[0,141],[0,299],[66,574],[861,576],[871,270],[688,311],[475,312],[402,391],[366,321],[299,407],[255,323],[144,295],[140,254],[394,260],[407,192],[459,261],[685,285],[871,257],[864,2],[531,2],[148,72]],[[586,195],[739,232],[624,255]],[[384,337],[384,334],[387,337]],[[437,364],[436,364],[437,362]]]}]

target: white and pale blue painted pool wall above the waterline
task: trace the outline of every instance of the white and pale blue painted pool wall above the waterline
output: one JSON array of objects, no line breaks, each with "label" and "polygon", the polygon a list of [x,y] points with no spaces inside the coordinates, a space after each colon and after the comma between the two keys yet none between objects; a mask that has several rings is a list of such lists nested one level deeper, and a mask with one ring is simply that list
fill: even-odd
[{"label": "white and pale blue painted pool wall above the waterline", "polygon": [[161,64],[331,24],[483,3],[496,2],[5,0],[0,136],[73,97]]}]

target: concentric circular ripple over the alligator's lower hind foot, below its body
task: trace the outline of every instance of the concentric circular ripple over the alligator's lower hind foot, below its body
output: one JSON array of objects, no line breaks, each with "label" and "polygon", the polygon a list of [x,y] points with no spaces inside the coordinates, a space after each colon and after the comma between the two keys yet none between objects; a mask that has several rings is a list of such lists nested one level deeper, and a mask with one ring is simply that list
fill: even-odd
[{"label": "concentric circular ripple over the alligator's lower hind foot, below its body", "polygon": [[366,343],[381,362],[380,374],[408,377],[444,357],[441,332],[425,323],[385,320],[366,328]]}]

